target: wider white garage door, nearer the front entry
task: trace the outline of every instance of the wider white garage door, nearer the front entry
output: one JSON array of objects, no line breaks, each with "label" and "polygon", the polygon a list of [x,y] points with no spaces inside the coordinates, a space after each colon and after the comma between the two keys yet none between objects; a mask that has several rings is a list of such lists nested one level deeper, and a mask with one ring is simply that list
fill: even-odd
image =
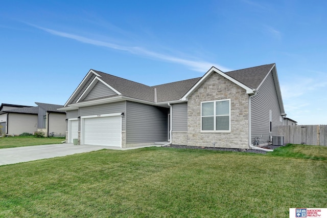
[{"label": "wider white garage door, nearer the front entry", "polygon": [[121,116],[84,119],[84,144],[121,147]]}]

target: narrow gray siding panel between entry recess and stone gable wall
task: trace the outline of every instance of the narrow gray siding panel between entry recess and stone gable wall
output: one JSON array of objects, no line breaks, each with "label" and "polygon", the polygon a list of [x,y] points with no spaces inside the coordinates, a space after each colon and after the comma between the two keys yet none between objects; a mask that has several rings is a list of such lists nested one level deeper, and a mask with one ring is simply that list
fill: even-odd
[{"label": "narrow gray siding panel between entry recess and stone gable wall", "polygon": [[188,103],[173,104],[173,132],[188,131]]}]

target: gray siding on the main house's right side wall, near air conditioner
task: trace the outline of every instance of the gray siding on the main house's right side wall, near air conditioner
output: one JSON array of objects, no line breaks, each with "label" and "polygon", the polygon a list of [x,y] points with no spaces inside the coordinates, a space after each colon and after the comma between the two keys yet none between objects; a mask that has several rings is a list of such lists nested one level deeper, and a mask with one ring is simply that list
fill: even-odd
[{"label": "gray siding on the main house's right side wall, near air conditioner", "polygon": [[[272,132],[270,133],[269,111],[272,111]],[[251,143],[260,138],[260,144],[268,143],[269,136],[278,135],[281,109],[279,108],[276,88],[272,73],[269,73],[258,93],[251,99]]]}]

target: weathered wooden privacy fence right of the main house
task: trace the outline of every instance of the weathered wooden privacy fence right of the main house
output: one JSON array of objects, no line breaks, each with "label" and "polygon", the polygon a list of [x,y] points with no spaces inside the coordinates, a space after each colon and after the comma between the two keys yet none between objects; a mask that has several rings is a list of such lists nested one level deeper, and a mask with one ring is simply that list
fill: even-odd
[{"label": "weathered wooden privacy fence right of the main house", "polygon": [[327,146],[327,125],[278,126],[278,135],[284,136],[284,144]]}]

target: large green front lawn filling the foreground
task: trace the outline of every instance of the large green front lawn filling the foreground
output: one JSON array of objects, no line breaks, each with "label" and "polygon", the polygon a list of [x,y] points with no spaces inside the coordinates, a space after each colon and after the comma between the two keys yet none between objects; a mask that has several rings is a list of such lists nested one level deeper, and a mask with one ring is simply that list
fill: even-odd
[{"label": "large green front lawn filling the foreground", "polygon": [[[327,147],[163,147],[0,166],[0,217],[288,217],[327,207]],[[301,155],[298,155],[301,154]]]}]

